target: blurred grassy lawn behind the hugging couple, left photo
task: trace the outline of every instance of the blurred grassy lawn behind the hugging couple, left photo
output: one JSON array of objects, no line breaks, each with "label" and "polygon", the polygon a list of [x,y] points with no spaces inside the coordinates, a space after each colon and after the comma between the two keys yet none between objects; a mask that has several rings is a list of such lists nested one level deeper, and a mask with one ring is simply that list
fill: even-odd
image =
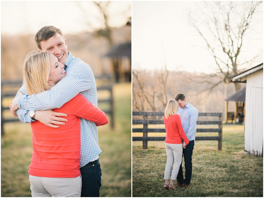
[{"label": "blurred grassy lawn behind the hugging couple, left photo", "polygon": [[[99,106],[100,108],[100,106]],[[131,83],[114,86],[115,128],[98,127],[102,150],[100,197],[131,197]],[[1,137],[1,197],[31,197],[28,165],[32,152],[31,127],[20,122],[4,125]]]}]

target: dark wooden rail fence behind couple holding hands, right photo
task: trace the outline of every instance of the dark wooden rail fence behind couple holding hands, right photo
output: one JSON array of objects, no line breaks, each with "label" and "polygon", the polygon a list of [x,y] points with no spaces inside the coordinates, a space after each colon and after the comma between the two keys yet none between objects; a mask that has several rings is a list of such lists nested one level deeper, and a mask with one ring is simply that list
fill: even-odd
[{"label": "dark wooden rail fence behind couple holding hands, right photo", "polygon": [[[143,119],[132,119],[132,124],[143,124],[143,128],[132,128],[132,132],[134,133],[143,133],[141,137],[132,137],[132,141],[143,141],[143,149],[148,148],[148,141],[165,141],[164,137],[149,137],[148,133],[166,133],[164,129],[153,129],[148,128],[150,124],[164,124],[163,117],[164,112],[132,112],[133,116],[143,116]],[[157,120],[149,120],[150,116],[159,117]],[[199,113],[198,118],[200,117],[218,117],[218,120],[205,120],[205,121],[197,121],[197,125],[218,125],[218,128],[200,129],[197,126],[196,132],[198,133],[206,133],[206,132],[217,132],[218,136],[197,136],[196,140],[217,140],[218,141],[218,150],[222,149],[222,129],[223,129],[223,117],[222,113]]]}]

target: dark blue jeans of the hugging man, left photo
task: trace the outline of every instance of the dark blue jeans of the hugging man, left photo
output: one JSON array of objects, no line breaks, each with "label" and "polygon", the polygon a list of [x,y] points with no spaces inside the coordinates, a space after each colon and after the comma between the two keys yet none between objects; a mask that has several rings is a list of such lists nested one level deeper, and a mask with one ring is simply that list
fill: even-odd
[{"label": "dark blue jeans of the hugging man, left photo", "polygon": [[81,197],[99,197],[101,175],[99,159],[80,168],[82,175]]}]

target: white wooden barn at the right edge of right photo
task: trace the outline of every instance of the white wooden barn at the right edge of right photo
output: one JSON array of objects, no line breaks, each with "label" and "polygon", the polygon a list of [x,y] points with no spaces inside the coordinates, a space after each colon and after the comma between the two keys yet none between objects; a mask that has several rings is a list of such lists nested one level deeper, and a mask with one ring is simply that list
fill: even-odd
[{"label": "white wooden barn at the right edge of right photo", "polygon": [[263,157],[263,63],[231,77],[246,83],[245,153]]}]

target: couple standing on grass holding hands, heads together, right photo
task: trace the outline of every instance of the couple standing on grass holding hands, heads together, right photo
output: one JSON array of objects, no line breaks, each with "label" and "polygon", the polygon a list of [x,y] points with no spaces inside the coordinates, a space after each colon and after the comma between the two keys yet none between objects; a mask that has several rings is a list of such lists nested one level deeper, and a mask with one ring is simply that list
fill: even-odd
[{"label": "couple standing on grass holding hands, heads together, right photo", "polygon": [[[176,190],[175,187],[188,188],[192,178],[192,151],[196,134],[197,109],[187,102],[183,93],[178,93],[175,100],[170,100],[165,108],[165,148],[167,163],[164,173],[164,189]],[[185,179],[182,171],[184,157]],[[173,169],[172,169],[172,164]],[[170,172],[172,169],[171,177]],[[171,181],[170,181],[171,179]],[[175,181],[177,183],[175,184]]]}]

